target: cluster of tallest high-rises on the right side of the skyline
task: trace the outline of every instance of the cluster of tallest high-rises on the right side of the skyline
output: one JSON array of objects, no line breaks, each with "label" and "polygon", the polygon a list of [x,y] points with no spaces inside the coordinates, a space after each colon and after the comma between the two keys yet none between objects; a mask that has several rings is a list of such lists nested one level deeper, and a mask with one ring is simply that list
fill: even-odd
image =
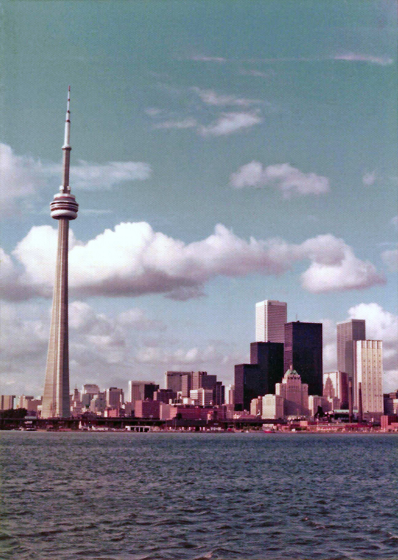
[{"label": "cluster of tallest high-rises on the right side of the skyline", "polygon": [[385,412],[382,341],[366,340],[364,320],[338,323],[334,372],[323,372],[322,324],[287,323],[286,302],[255,305],[255,337],[250,363],[235,366],[236,410],[269,419],[335,410],[380,419]]}]

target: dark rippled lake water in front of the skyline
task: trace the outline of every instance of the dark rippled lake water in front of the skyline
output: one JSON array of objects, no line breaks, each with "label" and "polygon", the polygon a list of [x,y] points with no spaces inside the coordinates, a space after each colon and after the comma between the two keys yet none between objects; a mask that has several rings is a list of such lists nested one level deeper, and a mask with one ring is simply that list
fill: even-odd
[{"label": "dark rippled lake water in front of the skyline", "polygon": [[0,558],[398,558],[398,435],[0,432]]}]

